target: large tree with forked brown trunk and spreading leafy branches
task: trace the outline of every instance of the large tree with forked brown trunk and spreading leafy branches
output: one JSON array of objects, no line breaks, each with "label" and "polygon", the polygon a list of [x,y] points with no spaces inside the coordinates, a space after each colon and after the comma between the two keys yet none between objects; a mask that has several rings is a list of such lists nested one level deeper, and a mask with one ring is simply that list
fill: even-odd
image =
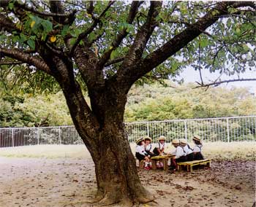
[{"label": "large tree with forked brown trunk and spreading leafy branches", "polygon": [[135,82],[172,77],[198,57],[197,69],[232,73],[254,66],[250,1],[0,4],[1,70],[22,63],[18,69],[58,82],[94,160],[97,201],[103,204],[153,200],[140,183],[124,132],[127,93]]}]

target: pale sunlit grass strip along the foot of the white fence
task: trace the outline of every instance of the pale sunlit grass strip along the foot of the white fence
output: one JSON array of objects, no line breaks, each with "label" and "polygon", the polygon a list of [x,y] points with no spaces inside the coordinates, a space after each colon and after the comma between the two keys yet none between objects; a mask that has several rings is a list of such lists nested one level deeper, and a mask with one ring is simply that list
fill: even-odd
[{"label": "pale sunlit grass strip along the foot of the white fence", "polygon": [[[193,147],[193,144],[190,144]],[[131,144],[135,153],[135,144]],[[167,144],[166,152],[173,149]],[[256,142],[211,142],[203,144],[203,155],[213,160],[255,160]],[[83,145],[39,145],[26,147],[0,148],[2,157],[45,157],[45,158],[89,158],[89,152]]]}]

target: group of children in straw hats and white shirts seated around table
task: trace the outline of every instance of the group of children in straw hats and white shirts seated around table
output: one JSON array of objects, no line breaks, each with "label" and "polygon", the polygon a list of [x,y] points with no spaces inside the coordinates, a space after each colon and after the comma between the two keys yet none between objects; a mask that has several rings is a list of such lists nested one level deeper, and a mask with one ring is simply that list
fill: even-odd
[{"label": "group of children in straw hats and white shirts seated around table", "polygon": [[[175,149],[170,152],[170,155],[175,155],[170,162],[170,169],[173,171],[177,168],[177,163],[192,161],[192,160],[203,160],[202,155],[202,141],[199,136],[193,136],[192,140],[195,143],[194,149],[192,149],[185,138],[173,139],[172,144]],[[157,155],[167,155],[165,153],[165,136],[160,136],[158,138],[158,143],[156,147],[152,147],[151,138],[146,136],[144,138],[138,138],[136,141],[136,153],[135,156],[138,160],[143,160],[145,162],[145,169],[149,170],[151,168],[151,157]],[[157,168],[162,168],[162,163],[157,163]]]}]

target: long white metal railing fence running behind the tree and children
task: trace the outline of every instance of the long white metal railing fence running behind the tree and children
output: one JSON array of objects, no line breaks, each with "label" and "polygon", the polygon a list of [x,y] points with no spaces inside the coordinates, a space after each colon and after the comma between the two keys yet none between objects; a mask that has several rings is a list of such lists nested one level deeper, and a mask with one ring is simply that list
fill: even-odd
[{"label": "long white metal railing fence running behind the tree and children", "polygon": [[[256,141],[256,116],[222,117],[193,120],[166,120],[126,123],[129,141],[150,136],[157,141],[160,135],[191,140],[193,134],[203,141]],[[48,128],[0,128],[0,147],[37,144],[83,144],[74,126]]]}]

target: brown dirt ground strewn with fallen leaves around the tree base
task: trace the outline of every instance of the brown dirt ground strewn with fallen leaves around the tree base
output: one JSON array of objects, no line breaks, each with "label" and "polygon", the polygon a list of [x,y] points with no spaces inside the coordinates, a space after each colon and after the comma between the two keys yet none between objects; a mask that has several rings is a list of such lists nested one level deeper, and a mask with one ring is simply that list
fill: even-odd
[{"label": "brown dirt ground strewn with fallen leaves around the tree base", "polygon": [[[138,170],[157,203],[140,206],[251,207],[255,161],[218,161],[192,173]],[[92,207],[96,192],[91,158],[0,157],[1,207]],[[135,205],[136,206],[136,205]]]}]

